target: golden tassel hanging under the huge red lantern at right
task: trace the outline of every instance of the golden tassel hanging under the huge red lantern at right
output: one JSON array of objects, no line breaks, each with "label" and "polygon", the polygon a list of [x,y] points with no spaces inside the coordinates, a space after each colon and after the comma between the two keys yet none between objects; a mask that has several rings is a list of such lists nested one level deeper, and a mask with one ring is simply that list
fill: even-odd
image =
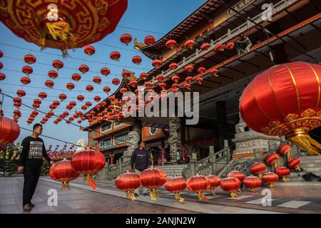
[{"label": "golden tassel hanging under the huge red lantern at right", "polygon": [[321,155],[321,145],[310,137],[310,135],[297,135],[290,138],[291,142],[304,148],[310,155]]}]

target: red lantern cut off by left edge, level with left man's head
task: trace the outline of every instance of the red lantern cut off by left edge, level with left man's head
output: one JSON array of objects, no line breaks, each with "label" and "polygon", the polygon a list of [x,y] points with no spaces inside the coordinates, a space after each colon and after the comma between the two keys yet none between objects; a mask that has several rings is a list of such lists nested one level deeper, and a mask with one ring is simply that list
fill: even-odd
[{"label": "red lantern cut off by left edge, level with left man's head", "polygon": [[20,135],[19,125],[0,115],[0,146],[11,145]]}]

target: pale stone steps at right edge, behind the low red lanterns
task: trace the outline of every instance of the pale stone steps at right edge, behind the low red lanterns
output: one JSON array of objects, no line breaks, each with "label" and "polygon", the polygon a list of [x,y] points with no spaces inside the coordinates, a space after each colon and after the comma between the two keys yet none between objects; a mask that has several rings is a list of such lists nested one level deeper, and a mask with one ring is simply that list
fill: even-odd
[{"label": "pale stone steps at right edge, behind the low red lanterns", "polygon": [[300,167],[304,170],[303,172],[291,172],[287,176],[288,182],[302,182],[305,181],[302,178],[307,172],[312,172],[314,175],[321,177],[321,156],[304,156],[300,157]]}]

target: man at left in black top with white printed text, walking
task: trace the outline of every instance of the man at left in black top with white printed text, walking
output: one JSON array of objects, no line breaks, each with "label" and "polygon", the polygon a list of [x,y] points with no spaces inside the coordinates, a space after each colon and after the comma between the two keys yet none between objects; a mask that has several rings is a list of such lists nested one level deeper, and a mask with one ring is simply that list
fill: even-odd
[{"label": "man at left in black top with white printed text, walking", "polygon": [[54,162],[50,159],[44,146],[44,141],[38,136],[42,133],[42,125],[36,123],[34,132],[26,137],[21,144],[21,154],[18,162],[18,172],[24,173],[23,208],[24,212],[30,212],[34,204],[31,199],[36,190],[40,177],[41,166],[45,157],[50,165]]}]

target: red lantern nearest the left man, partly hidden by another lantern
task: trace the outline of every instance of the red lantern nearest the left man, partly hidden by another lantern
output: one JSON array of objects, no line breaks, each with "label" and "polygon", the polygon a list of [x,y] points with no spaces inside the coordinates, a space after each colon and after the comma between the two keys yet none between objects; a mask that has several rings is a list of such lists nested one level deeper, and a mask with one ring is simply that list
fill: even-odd
[{"label": "red lantern nearest the left man, partly hidden by another lantern", "polygon": [[49,176],[51,179],[61,182],[61,190],[68,190],[69,182],[75,180],[79,174],[71,166],[71,161],[62,160],[51,165]]}]

